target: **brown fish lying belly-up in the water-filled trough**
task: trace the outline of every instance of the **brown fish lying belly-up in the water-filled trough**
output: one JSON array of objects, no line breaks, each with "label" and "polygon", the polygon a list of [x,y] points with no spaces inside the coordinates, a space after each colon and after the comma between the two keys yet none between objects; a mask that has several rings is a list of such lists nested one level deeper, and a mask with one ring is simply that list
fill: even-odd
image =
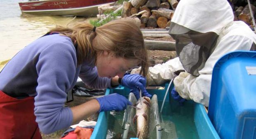
[{"label": "brown fish lying belly-up in the water-filled trough", "polygon": [[133,123],[136,122],[137,138],[139,139],[148,139],[149,136],[150,105],[149,97],[142,97],[142,104],[140,104],[140,100],[136,103],[136,107],[140,109],[136,109]]}]

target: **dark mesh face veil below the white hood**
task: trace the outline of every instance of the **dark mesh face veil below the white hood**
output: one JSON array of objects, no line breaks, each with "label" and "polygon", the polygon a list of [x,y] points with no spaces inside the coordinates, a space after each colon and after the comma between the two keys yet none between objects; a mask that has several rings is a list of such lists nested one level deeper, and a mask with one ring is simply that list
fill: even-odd
[{"label": "dark mesh face veil below the white hood", "polygon": [[173,22],[169,34],[176,40],[175,49],[184,69],[193,76],[199,76],[198,71],[214,50],[218,35],[215,32],[190,30]]}]

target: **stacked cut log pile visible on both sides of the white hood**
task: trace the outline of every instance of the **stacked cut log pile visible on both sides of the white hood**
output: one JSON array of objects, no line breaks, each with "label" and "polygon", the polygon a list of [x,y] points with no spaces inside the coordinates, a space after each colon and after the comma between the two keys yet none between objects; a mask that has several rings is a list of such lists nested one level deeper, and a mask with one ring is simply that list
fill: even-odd
[{"label": "stacked cut log pile visible on both sides of the white hood", "polygon": [[[174,10],[180,0],[129,0],[122,5],[99,7],[98,19],[106,19],[104,12],[121,10],[121,17],[138,18],[140,28],[166,28],[170,26]],[[256,16],[256,2],[251,2],[251,13],[247,0],[229,0],[234,13],[234,21],[244,21],[250,27],[254,27],[253,21]],[[253,17],[252,17],[253,15]],[[136,19],[136,21],[138,21]]]}]

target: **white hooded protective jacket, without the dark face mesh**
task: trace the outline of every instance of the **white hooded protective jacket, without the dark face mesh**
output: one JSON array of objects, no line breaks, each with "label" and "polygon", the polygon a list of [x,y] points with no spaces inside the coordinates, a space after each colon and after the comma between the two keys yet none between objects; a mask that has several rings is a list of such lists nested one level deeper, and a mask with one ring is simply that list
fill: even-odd
[{"label": "white hooded protective jacket, without the dark face mesh", "polygon": [[[254,32],[244,22],[233,21],[233,19],[233,12],[227,0],[180,0],[171,19],[170,34],[182,34],[192,30],[200,33],[214,32],[217,35],[215,44],[211,46],[212,51],[201,64],[203,66],[199,65],[201,67],[197,69],[197,76],[181,72],[175,77],[173,81],[175,89],[181,97],[208,107],[212,71],[216,61],[231,51],[255,50],[256,35]],[[175,25],[179,28],[175,28]],[[176,51],[177,49],[179,48],[176,44]],[[190,52],[189,55],[191,55]],[[184,66],[187,65],[183,65],[178,57],[162,65],[149,67],[147,84],[159,85],[171,80],[174,78],[173,72],[184,69]],[[135,72],[136,69],[131,73]]]}]

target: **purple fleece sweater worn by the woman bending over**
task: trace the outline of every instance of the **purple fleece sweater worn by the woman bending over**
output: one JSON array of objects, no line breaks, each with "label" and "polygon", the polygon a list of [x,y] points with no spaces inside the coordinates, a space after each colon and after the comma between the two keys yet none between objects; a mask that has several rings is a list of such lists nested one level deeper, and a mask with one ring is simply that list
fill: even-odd
[{"label": "purple fleece sweater worn by the woman bending over", "polygon": [[111,87],[111,80],[99,77],[90,63],[87,60],[77,66],[76,49],[69,37],[40,37],[0,72],[0,90],[19,99],[35,96],[36,122],[41,132],[50,134],[72,123],[71,109],[64,103],[66,92],[73,88],[78,76],[92,88]]}]

